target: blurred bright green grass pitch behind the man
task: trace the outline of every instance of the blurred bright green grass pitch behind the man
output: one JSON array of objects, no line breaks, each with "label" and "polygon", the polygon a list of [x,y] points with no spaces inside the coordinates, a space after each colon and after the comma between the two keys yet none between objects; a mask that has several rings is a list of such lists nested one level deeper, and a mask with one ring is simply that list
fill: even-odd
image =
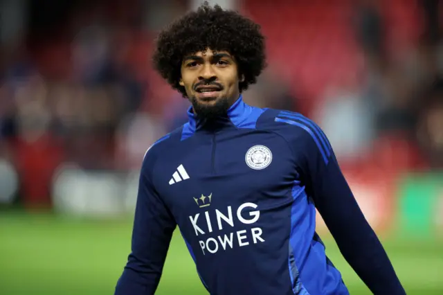
[{"label": "blurred bright green grass pitch behind the man", "polygon": [[[113,294],[129,253],[131,226],[130,221],[0,212],[0,294]],[[334,242],[325,243],[350,294],[371,294]],[[407,294],[443,294],[442,241],[391,238],[383,244]],[[178,231],[156,294],[207,294]]]}]

